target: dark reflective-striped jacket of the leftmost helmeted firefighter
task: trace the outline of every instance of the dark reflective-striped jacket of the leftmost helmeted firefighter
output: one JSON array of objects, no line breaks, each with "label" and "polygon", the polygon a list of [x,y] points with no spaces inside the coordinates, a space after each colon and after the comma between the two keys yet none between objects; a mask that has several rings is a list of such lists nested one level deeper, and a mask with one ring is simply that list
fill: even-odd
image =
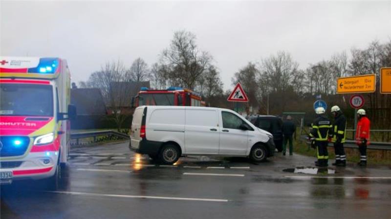
[{"label": "dark reflective-striped jacket of the leftmost helmeted firefighter", "polygon": [[317,141],[328,141],[328,134],[331,133],[331,122],[325,115],[320,115],[312,123],[311,138]]}]

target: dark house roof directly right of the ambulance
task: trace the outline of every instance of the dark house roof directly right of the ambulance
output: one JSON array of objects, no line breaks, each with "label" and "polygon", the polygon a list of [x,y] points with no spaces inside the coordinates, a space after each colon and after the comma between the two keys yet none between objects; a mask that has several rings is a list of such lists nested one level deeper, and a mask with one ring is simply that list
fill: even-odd
[{"label": "dark house roof directly right of the ambulance", "polygon": [[106,114],[106,104],[99,88],[71,89],[70,100],[76,106],[77,115]]}]

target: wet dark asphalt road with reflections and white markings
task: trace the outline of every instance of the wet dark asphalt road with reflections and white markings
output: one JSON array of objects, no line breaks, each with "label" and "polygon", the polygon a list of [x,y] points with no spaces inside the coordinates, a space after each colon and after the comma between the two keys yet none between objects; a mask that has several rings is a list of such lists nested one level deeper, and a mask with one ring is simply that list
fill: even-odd
[{"label": "wet dark asphalt road with reflections and white markings", "polygon": [[391,218],[391,168],[284,172],[314,158],[182,158],[174,166],[130,152],[128,142],[72,150],[65,183],[1,187],[1,219]]}]

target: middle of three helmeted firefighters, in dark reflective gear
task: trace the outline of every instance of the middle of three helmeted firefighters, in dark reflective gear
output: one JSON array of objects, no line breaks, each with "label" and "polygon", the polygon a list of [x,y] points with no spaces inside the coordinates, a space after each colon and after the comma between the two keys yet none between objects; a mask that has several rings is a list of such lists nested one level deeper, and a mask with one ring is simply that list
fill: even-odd
[{"label": "middle of three helmeted firefighters, in dark reflective gear", "polygon": [[331,113],[334,114],[334,123],[331,129],[330,137],[334,143],[336,166],[346,166],[346,154],[344,143],[346,140],[346,118],[338,106],[331,107]]}]

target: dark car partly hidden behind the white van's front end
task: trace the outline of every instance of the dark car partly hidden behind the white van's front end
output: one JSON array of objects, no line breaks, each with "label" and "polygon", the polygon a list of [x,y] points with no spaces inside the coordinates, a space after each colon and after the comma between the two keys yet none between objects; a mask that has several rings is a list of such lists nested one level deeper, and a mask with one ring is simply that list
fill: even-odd
[{"label": "dark car partly hidden behind the white van's front end", "polygon": [[282,152],[282,119],[280,117],[253,115],[248,120],[258,128],[270,132],[278,152]]}]

